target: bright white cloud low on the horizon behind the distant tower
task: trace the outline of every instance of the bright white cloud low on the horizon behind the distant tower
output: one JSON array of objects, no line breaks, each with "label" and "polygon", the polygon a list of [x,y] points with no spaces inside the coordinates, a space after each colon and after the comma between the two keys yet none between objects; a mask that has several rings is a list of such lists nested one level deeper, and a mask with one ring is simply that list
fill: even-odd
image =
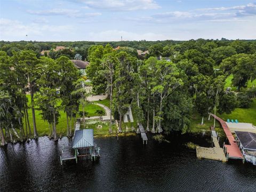
[{"label": "bright white cloud low on the horizon behind the distant tower", "polygon": [[124,30],[106,30],[101,31],[99,33],[89,33],[90,41],[120,41],[121,36],[123,37],[124,41],[140,41],[140,40],[147,40],[147,41],[156,41],[156,40],[165,40],[167,36],[162,34],[155,34],[155,33],[134,33],[130,31]]}]

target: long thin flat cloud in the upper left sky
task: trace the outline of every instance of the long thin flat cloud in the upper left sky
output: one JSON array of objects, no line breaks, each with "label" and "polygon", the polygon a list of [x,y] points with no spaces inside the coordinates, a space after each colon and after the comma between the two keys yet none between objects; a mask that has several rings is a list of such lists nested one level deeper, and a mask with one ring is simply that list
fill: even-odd
[{"label": "long thin flat cloud in the upper left sky", "polygon": [[72,9],[27,10],[27,12],[35,15],[65,15],[73,18],[90,18],[101,15],[101,13],[81,13],[79,10]]}]

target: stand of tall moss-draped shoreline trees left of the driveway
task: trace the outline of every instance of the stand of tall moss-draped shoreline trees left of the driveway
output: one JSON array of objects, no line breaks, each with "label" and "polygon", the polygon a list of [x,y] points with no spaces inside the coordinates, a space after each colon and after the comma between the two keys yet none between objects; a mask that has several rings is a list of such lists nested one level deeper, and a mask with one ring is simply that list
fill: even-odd
[{"label": "stand of tall moss-draped shoreline trees left of the driveway", "polygon": [[[38,137],[35,110],[40,110],[49,123],[51,137],[57,140],[56,124],[59,111],[67,115],[67,136],[71,135],[71,121],[76,116],[81,94],[77,92],[80,75],[69,58],[57,60],[37,57],[33,50],[12,51],[12,57],[0,52],[0,134],[1,143]],[[28,105],[26,94],[30,94]],[[33,128],[28,110],[32,111]]]}]

